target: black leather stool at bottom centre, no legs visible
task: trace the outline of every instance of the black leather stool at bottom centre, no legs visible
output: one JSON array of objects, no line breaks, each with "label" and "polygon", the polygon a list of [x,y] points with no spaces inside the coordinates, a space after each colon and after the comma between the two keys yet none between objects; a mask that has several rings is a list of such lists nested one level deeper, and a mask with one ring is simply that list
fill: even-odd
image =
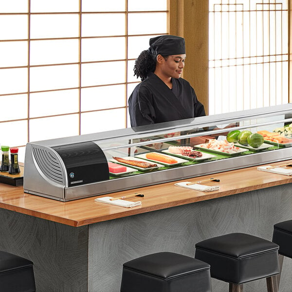
[{"label": "black leather stool at bottom centre, no legs visible", "polygon": [[121,292],[211,292],[210,265],[163,252],[123,265]]}]

